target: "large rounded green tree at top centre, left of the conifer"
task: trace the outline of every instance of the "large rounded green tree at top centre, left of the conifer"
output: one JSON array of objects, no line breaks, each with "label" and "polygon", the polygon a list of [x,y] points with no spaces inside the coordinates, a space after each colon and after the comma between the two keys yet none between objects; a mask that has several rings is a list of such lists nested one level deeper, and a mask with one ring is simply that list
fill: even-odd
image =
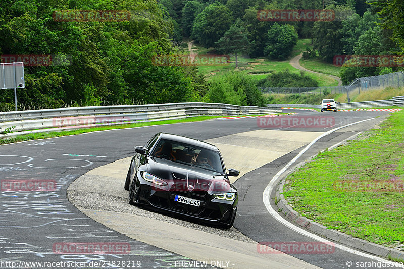
[{"label": "large rounded green tree at top centre, left of the conifer", "polygon": [[232,22],[229,9],[216,1],[196,16],[191,37],[206,48],[212,47],[230,28]]}]

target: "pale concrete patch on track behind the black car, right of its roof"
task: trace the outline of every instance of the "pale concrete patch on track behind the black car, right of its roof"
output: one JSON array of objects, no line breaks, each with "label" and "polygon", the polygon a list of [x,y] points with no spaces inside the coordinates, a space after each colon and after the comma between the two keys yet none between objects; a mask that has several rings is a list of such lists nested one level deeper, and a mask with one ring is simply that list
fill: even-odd
[{"label": "pale concrete patch on track behind the black car, right of its roof", "polygon": [[209,139],[223,155],[226,168],[240,170],[240,176],[230,177],[235,182],[244,174],[299,148],[322,132],[255,130]]}]

